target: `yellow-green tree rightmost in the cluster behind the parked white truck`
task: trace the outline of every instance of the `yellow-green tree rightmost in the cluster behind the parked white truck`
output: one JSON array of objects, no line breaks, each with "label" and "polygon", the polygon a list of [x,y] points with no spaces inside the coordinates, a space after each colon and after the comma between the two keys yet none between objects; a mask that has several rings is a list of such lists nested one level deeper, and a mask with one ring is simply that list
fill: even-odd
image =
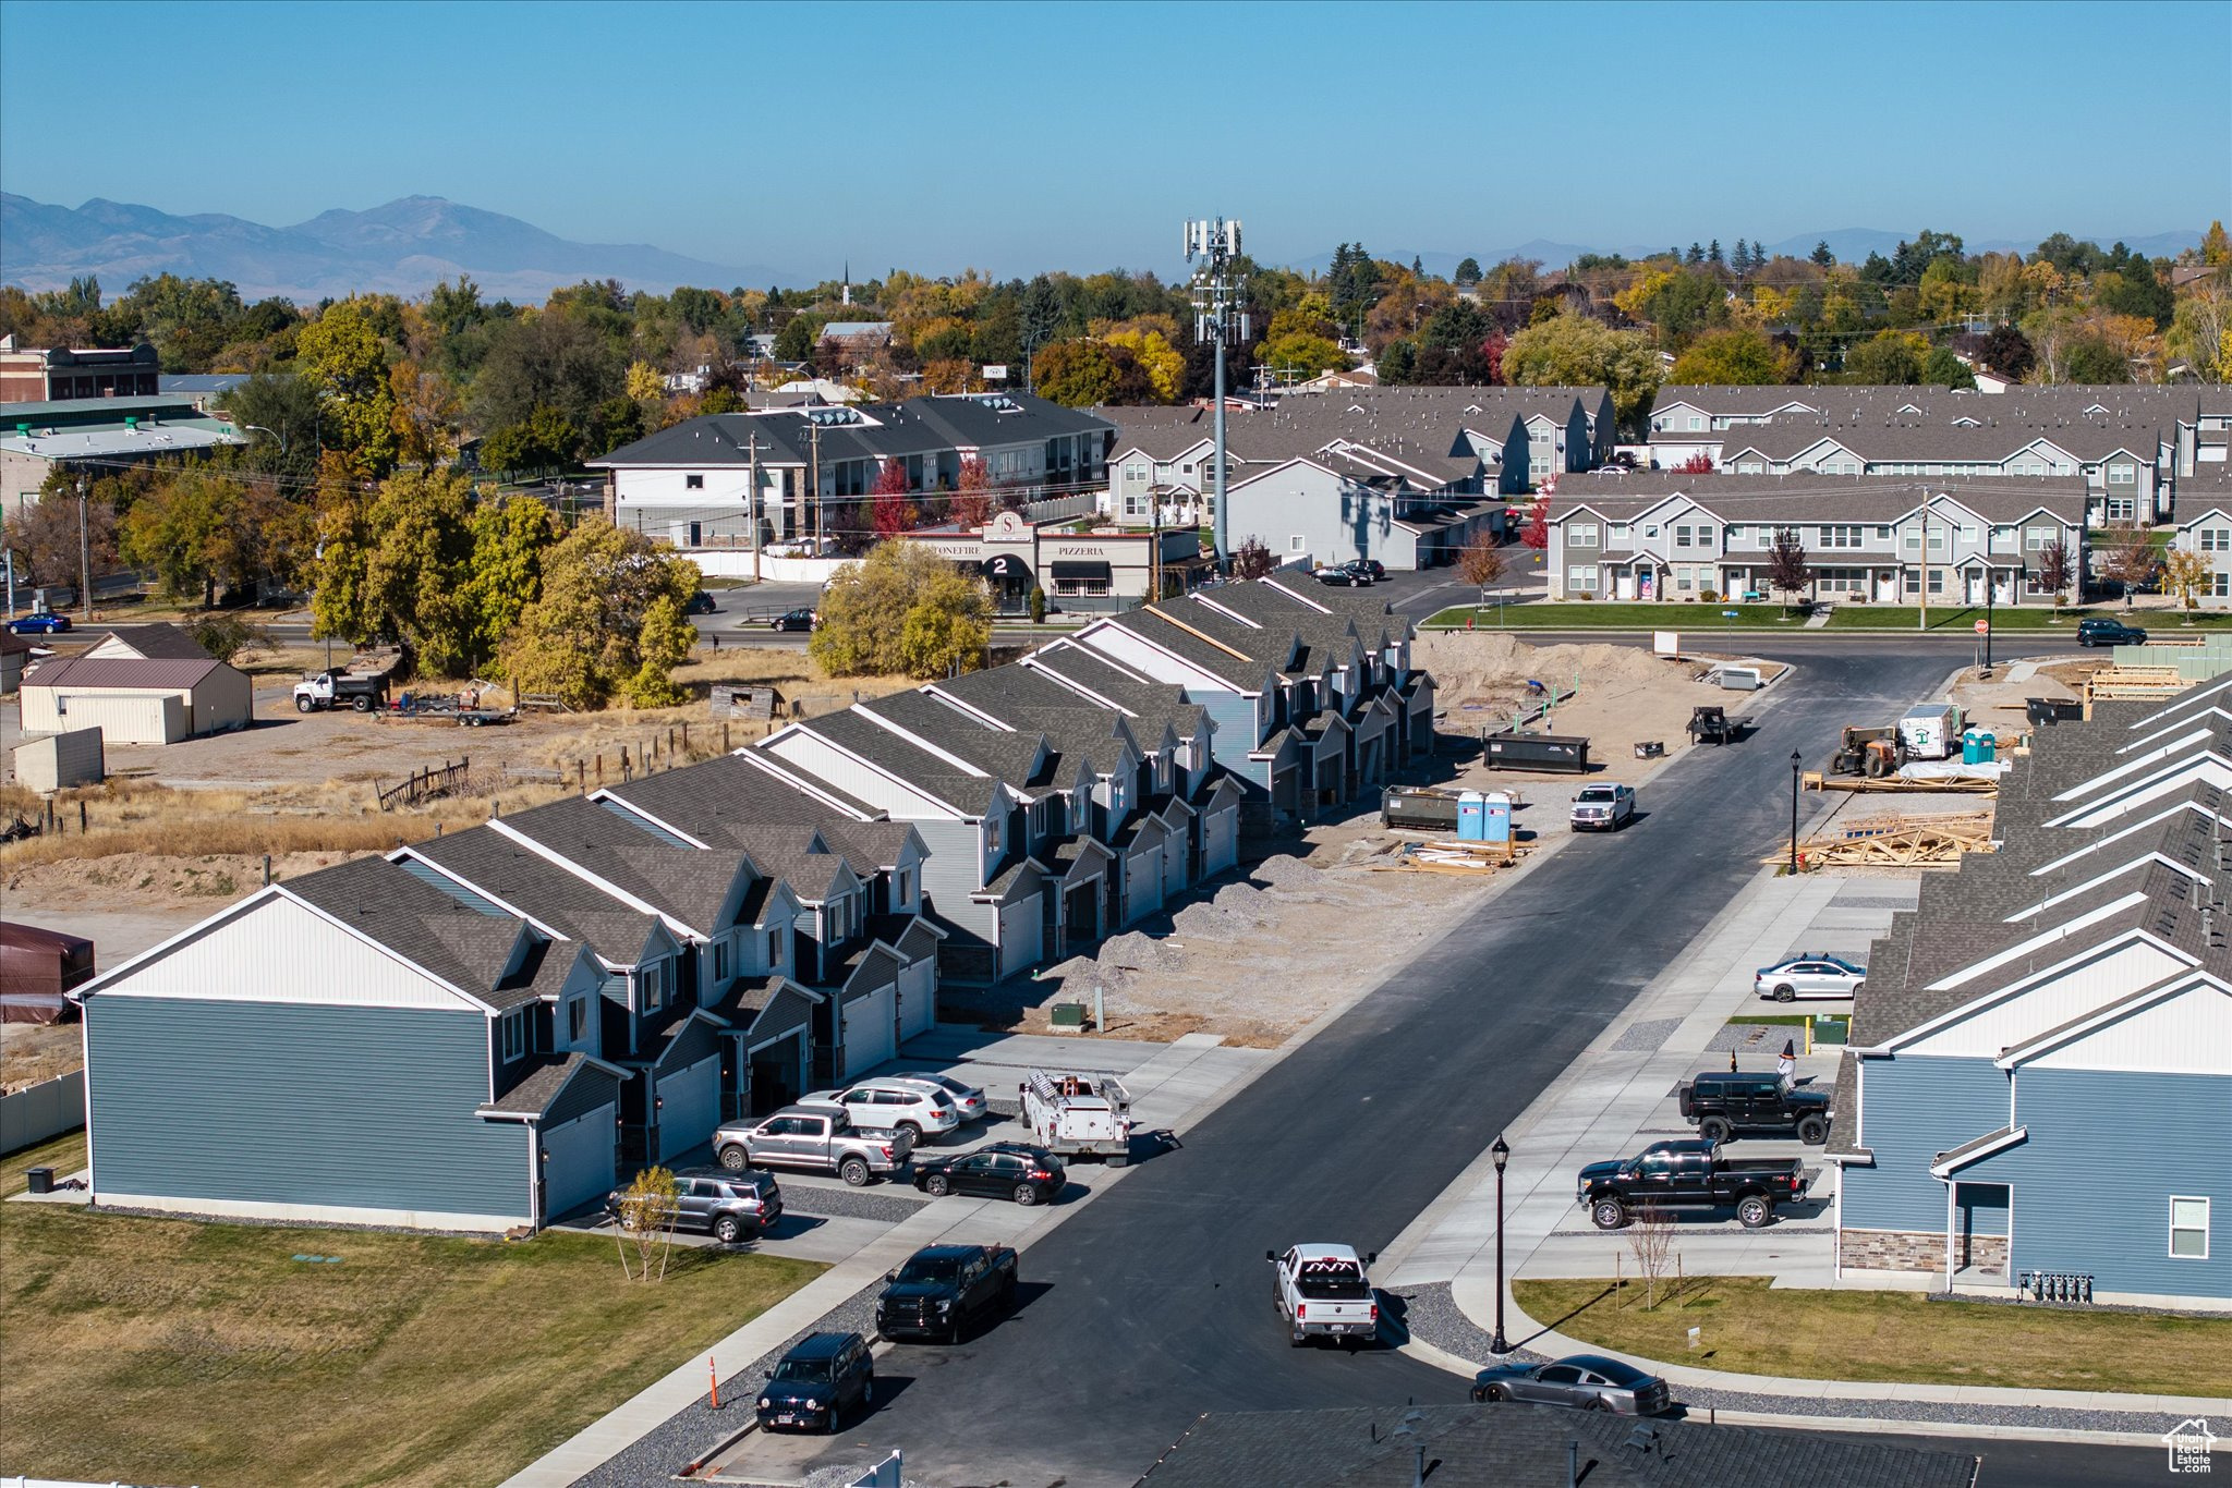
[{"label": "yellow-green tree rightmost in the cluster behind the parked white truck", "polygon": [[[520,692],[551,692],[569,707],[645,696],[661,680],[645,663],[674,656],[658,600],[685,607],[699,567],[650,538],[591,518],[542,555],[542,593],[520,613],[500,651]],[[650,651],[645,627],[650,625]]]}]

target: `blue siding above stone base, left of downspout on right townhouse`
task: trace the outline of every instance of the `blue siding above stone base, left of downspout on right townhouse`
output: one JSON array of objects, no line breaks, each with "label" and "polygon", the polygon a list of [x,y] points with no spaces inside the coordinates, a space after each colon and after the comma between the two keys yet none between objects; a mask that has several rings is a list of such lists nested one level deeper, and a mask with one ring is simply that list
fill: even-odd
[{"label": "blue siding above stone base, left of downspout on right townhouse", "polygon": [[1904,1055],[1868,1060],[1861,1091],[1859,1140],[1875,1167],[1844,1169],[1844,1225],[1944,1234],[1946,1185],[1931,1162],[2007,1124],[2007,1075],[1991,1060]]}]

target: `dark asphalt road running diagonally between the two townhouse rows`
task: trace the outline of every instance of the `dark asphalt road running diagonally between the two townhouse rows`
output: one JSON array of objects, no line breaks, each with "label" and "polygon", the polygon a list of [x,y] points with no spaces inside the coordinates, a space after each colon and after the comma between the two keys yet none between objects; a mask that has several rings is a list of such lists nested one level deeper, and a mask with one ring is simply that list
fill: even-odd
[{"label": "dark asphalt road running diagonally between the two townhouse rows", "polygon": [[[1899,709],[1955,665],[1942,647],[1882,642],[1808,647],[1806,663],[1750,738],[1658,776],[1634,828],[1574,841],[1382,968],[1384,986],[1181,1151],[1031,1247],[1024,1276],[1040,1285],[1016,1318],[958,1350],[893,1350],[888,1403],[830,1459],[906,1443],[929,1481],[1132,1484],[1205,1410],[1462,1399],[1457,1379],[1393,1350],[1290,1350],[1263,1252],[1386,1247],[1788,832],[1790,752],[1821,754],[1839,723]],[[1973,1450],[1995,1488],[2158,1472],[2138,1450]]]}]

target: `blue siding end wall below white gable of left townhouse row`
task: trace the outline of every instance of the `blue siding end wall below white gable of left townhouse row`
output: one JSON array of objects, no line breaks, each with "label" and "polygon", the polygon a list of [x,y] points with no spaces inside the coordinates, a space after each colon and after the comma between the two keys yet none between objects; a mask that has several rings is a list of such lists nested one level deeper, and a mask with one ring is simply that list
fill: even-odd
[{"label": "blue siding end wall below white gable of left townhouse row", "polygon": [[103,1194],[527,1216],[480,1013],[85,1002]]}]

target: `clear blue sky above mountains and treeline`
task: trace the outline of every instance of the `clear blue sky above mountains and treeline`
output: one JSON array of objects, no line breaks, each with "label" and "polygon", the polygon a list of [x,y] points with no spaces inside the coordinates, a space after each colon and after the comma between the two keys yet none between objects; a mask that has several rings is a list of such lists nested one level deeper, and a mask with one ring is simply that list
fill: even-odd
[{"label": "clear blue sky above mountains and treeline", "polygon": [[[2228,216],[2232,4],[0,4],[0,187],[786,272]],[[67,58],[67,65],[65,65]],[[1205,85],[1205,78],[1225,83]]]}]

